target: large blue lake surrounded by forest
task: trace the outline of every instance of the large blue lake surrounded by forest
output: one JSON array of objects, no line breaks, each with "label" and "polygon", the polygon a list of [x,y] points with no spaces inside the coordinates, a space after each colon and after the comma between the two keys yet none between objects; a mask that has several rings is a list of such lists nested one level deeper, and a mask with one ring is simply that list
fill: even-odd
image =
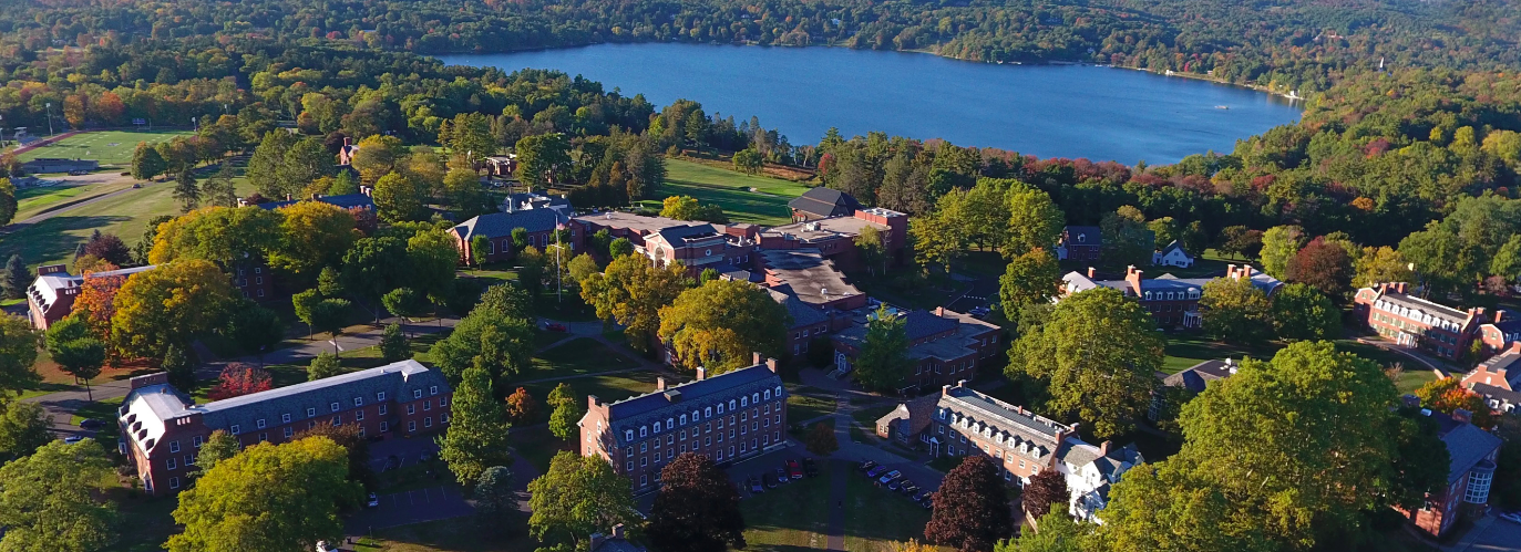
[{"label": "large blue lake surrounded by forest", "polygon": [[1037,157],[1126,164],[1230,152],[1238,138],[1299,120],[1287,99],[1255,90],[1095,65],[992,65],[926,53],[838,47],[599,44],[440,56],[503,70],[555,68],[645,94],[760,117],[794,144],[882,131]]}]

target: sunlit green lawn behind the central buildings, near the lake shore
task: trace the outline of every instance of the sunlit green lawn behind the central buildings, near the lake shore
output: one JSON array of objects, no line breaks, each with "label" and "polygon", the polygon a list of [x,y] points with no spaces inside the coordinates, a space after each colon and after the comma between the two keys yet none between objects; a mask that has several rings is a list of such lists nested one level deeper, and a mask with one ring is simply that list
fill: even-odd
[{"label": "sunlit green lawn behind the central buildings, near the lake shore", "polygon": [[[754,192],[751,192],[754,189]],[[786,202],[808,192],[808,186],[780,178],[753,176],[683,160],[666,160],[666,182],[660,198],[692,196],[718,204],[735,222],[779,225],[791,222]],[[660,208],[659,199],[639,202]]]}]

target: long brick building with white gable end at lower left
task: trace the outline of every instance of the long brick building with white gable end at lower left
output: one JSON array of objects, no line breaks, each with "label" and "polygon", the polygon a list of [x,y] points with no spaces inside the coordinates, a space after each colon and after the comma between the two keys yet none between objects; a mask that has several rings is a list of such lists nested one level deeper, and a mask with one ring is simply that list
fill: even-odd
[{"label": "long brick building with white gable end at lower left", "polygon": [[167,374],[134,377],[117,409],[123,456],[137,467],[149,494],[178,493],[190,484],[196,452],[214,430],[242,446],[284,443],[316,424],[357,424],[359,435],[420,435],[449,424],[453,391],[444,376],[417,360],[402,360],[316,382],[195,404],[169,385]]}]

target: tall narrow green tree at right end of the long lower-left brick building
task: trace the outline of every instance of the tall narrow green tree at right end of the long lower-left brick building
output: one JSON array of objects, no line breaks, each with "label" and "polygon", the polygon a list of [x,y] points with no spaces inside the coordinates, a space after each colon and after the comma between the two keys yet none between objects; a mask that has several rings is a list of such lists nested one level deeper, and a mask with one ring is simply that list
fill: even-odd
[{"label": "tall narrow green tree at right end of the long lower-left brick building", "polygon": [[506,412],[491,397],[491,374],[485,368],[465,368],[450,409],[449,429],[438,438],[438,458],[461,485],[481,479],[488,467],[511,464]]}]

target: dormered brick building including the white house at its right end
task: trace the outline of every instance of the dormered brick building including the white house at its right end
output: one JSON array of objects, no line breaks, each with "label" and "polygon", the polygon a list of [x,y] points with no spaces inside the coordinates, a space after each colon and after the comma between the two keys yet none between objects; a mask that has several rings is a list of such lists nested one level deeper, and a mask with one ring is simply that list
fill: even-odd
[{"label": "dormered brick building including the white house at its right end", "polygon": [[1021,487],[1036,473],[1057,470],[1071,491],[1069,512],[1086,520],[1097,520],[1121,474],[1145,462],[1133,444],[1089,444],[1077,424],[989,397],[966,382],[900,403],[878,418],[876,433],[932,456],[987,456],[1002,465],[1004,481]]}]

